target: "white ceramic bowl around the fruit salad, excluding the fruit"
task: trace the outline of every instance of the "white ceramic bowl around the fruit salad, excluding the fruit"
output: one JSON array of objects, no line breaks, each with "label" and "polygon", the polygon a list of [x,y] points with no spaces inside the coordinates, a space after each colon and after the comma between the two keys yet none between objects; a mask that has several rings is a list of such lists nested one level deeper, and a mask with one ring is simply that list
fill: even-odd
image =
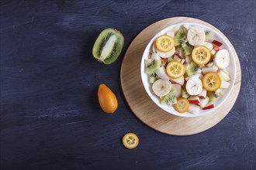
[{"label": "white ceramic bowl around the fruit salad, excluding the fruit", "polygon": [[[190,26],[200,26],[203,29],[208,29],[209,31],[214,33],[213,39],[216,39],[217,41],[220,41],[223,43],[222,49],[227,49],[228,52],[230,53],[230,65],[227,67],[227,71],[230,73],[230,87],[227,90],[224,90],[224,95],[223,97],[219,97],[218,100],[216,101],[215,107],[213,109],[209,110],[200,110],[198,114],[191,114],[189,112],[185,112],[184,114],[178,113],[173,107],[168,107],[167,104],[160,104],[160,99],[157,97],[152,90],[152,85],[149,83],[149,76],[146,73],[146,66],[145,66],[145,59],[148,59],[148,55],[150,54],[150,48],[153,44],[153,42],[157,39],[158,36],[164,35],[166,32],[168,32],[170,29],[173,29],[175,26],[182,26],[182,25],[190,25]],[[161,32],[158,32],[157,35],[153,37],[153,39],[150,40],[150,42],[147,44],[146,49],[144,50],[144,54],[141,59],[141,64],[140,64],[140,75],[142,82],[144,84],[144,88],[147,91],[147,94],[151,98],[151,100],[154,101],[155,104],[157,104],[158,107],[161,107],[161,109],[167,111],[170,114],[175,114],[180,117],[198,117],[202,116],[205,114],[209,114],[210,112],[213,112],[216,110],[216,108],[220,107],[221,105],[225,104],[225,100],[227,100],[227,97],[230,96],[230,93],[234,87],[234,81],[236,77],[236,64],[235,64],[235,58],[234,58],[234,53],[230,49],[230,46],[228,46],[228,43],[225,39],[223,39],[222,36],[220,36],[219,33],[214,31],[213,29],[210,29],[207,26],[202,26],[197,23],[181,23],[181,24],[176,24],[173,26],[168,26],[167,28],[161,30]]]}]

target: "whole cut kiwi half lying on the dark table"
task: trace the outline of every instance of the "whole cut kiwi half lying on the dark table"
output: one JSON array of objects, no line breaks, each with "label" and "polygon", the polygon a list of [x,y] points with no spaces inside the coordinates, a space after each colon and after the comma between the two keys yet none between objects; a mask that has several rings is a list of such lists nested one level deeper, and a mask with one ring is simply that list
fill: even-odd
[{"label": "whole cut kiwi half lying on the dark table", "polygon": [[101,63],[113,63],[123,49],[123,41],[121,32],[111,28],[104,29],[95,41],[92,55]]}]

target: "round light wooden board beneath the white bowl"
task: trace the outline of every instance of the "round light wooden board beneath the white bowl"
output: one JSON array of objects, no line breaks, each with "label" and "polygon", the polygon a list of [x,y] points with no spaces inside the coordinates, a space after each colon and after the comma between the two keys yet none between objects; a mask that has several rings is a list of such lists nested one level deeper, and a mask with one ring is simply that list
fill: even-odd
[{"label": "round light wooden board beneath the white bowl", "polygon": [[[152,39],[153,36],[157,34],[157,32],[160,32],[162,29],[168,26],[185,22],[199,23],[216,30],[216,32],[219,32],[220,35],[223,36],[223,38],[226,39],[230,44],[230,47],[234,52],[237,65],[237,76],[233,91],[230,93],[230,97],[226,100],[223,106],[219,107],[217,110],[214,110],[210,114],[200,117],[178,117],[173,114],[169,114],[164,110],[161,110],[161,108],[157,107],[157,105],[154,104],[154,102],[147,95],[147,92],[144,89],[142,80],[140,78],[141,57],[144,53],[144,49],[146,48],[147,43],[150,42],[150,39]],[[234,47],[227,39],[227,37],[224,36],[219,29],[216,29],[209,23],[188,17],[164,19],[159,22],[155,22],[140,32],[140,34],[135,39],[133,39],[133,42],[130,44],[126,51],[126,54],[123,58],[120,76],[121,85],[126,101],[129,104],[131,110],[133,110],[133,113],[140,119],[140,121],[143,121],[144,124],[147,124],[150,128],[154,128],[156,131],[161,131],[162,133],[173,135],[198,134],[218,124],[234,106],[240,90],[241,81],[239,59]]]}]

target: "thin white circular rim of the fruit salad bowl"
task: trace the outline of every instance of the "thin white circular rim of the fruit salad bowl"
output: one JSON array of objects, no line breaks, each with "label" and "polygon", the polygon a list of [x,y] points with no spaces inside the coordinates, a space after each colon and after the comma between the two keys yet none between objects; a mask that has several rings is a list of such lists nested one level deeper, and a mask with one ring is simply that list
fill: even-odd
[{"label": "thin white circular rim of the fruit salad bowl", "polygon": [[[154,40],[157,38],[157,36],[160,36],[160,35],[164,35],[166,32],[168,32],[169,29],[175,27],[175,26],[184,26],[184,25],[189,25],[189,26],[200,26],[204,29],[208,29],[209,31],[213,32],[214,35],[216,35],[216,38],[217,39],[221,39],[220,41],[223,42],[223,45],[225,45],[225,49],[227,49],[230,53],[230,64],[231,63],[234,63],[233,66],[233,69],[232,69],[232,75],[234,75],[232,78],[231,81],[230,81],[230,87],[228,88],[228,91],[223,95],[222,97],[222,100],[219,101],[220,104],[217,104],[216,107],[214,107],[213,109],[210,109],[210,110],[203,110],[202,109],[200,110],[200,112],[202,113],[199,113],[199,114],[191,114],[189,112],[185,112],[185,114],[180,114],[178,113],[176,110],[174,110],[173,107],[168,107],[168,110],[166,109],[167,105],[165,104],[160,104],[159,102],[159,99],[157,99],[158,102],[156,102],[151,96],[153,96],[154,94],[150,91],[150,89],[147,89],[146,87],[146,80],[144,80],[144,75],[147,75],[147,73],[145,72],[145,63],[144,63],[144,59],[150,54],[150,48],[154,42]],[[234,53],[232,51],[232,49],[230,48],[229,46],[229,43],[228,43],[228,39],[226,40],[225,38],[225,35],[223,34],[223,32],[221,32],[223,34],[223,36],[219,33],[220,30],[219,29],[216,29],[214,26],[213,26],[213,29],[210,28],[209,26],[204,26],[202,24],[199,24],[199,23],[195,23],[195,22],[180,22],[180,23],[176,23],[174,25],[171,25],[171,26],[167,26],[165,27],[164,29],[161,29],[161,31],[157,32],[154,37],[152,39],[150,39],[150,41],[147,43],[147,46],[145,47],[144,49],[144,53],[142,55],[142,58],[141,58],[141,63],[140,63],[140,78],[143,82],[143,85],[144,85],[144,89],[146,90],[147,92],[147,95],[150,97],[151,100],[153,100],[154,104],[157,105],[157,107],[160,107],[162,110],[168,112],[168,114],[174,114],[178,117],[199,117],[199,116],[202,116],[202,115],[206,115],[206,114],[210,114],[212,112],[214,112],[214,110],[216,110],[217,108],[219,108],[220,106],[222,106],[224,104],[224,102],[227,100],[227,98],[230,96],[230,93],[231,91],[233,90],[234,88],[234,83],[235,83],[235,79],[236,79],[236,73],[237,73],[237,67],[236,67],[236,61],[235,61],[235,56],[234,56]],[[230,76],[231,76],[231,73],[230,73]],[[148,76],[147,76],[147,84],[149,84],[148,82]],[[151,86],[151,85],[150,85]],[[157,97],[158,98],[158,97]]]}]

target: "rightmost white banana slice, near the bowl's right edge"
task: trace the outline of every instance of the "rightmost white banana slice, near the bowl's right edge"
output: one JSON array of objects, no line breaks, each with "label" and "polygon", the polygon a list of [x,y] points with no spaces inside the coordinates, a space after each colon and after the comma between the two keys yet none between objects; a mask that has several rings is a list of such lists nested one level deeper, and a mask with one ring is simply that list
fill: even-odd
[{"label": "rightmost white banana slice, near the bowl's right edge", "polygon": [[230,64],[230,54],[227,49],[220,49],[213,58],[213,63],[220,69],[225,69]]}]

